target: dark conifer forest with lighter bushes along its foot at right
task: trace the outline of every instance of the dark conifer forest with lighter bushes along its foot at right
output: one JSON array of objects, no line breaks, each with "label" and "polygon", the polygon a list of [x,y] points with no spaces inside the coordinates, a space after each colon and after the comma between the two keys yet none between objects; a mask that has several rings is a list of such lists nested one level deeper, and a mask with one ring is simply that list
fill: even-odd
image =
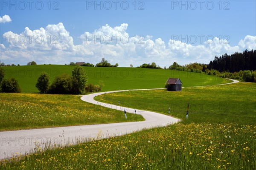
[{"label": "dark conifer forest with lighter bushes along its foot at right", "polygon": [[179,65],[174,62],[169,66],[171,70],[197,72],[214,75],[222,78],[256,82],[256,50],[245,50],[241,53],[231,55],[224,54],[221,57],[215,56],[209,64],[189,63]]}]

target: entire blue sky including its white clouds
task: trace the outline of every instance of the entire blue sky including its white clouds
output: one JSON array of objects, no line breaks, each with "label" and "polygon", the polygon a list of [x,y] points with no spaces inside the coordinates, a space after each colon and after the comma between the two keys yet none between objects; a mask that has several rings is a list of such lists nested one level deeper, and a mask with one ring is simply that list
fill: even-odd
[{"label": "entire blue sky including its white clouds", "polygon": [[[1,62],[96,64],[104,57],[122,67],[169,67],[256,48],[255,0],[29,2],[0,1]],[[32,35],[42,43],[29,42]]]}]

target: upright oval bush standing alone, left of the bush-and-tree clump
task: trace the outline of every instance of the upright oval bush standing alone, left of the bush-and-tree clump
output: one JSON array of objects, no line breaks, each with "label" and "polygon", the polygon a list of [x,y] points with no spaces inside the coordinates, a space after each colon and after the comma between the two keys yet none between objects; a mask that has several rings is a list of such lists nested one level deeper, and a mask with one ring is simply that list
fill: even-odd
[{"label": "upright oval bush standing alone, left of the bush-and-tree clump", "polygon": [[47,73],[41,73],[38,77],[37,83],[35,84],[35,87],[41,92],[41,93],[47,93],[47,90],[49,88],[50,84],[50,77]]}]

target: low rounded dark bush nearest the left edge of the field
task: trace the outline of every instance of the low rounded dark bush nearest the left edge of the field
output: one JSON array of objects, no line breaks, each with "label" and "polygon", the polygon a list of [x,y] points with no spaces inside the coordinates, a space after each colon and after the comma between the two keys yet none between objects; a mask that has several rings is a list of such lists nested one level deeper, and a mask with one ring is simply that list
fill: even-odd
[{"label": "low rounded dark bush nearest the left edge of the field", "polygon": [[21,88],[16,79],[3,79],[1,82],[1,91],[4,93],[20,93]]}]

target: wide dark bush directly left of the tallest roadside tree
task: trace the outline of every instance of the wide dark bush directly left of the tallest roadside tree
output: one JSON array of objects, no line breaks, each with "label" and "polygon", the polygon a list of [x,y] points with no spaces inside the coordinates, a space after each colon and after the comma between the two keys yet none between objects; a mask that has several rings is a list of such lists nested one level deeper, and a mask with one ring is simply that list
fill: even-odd
[{"label": "wide dark bush directly left of the tallest roadside tree", "polygon": [[72,78],[68,74],[55,77],[49,87],[48,93],[51,94],[70,94],[72,88]]}]

